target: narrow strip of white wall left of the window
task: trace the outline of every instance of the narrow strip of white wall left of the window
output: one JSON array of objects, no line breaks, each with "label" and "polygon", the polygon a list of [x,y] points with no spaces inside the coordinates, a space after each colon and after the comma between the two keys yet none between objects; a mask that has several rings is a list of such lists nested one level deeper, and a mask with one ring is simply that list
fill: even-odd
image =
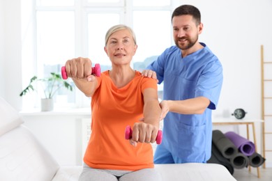
[{"label": "narrow strip of white wall left of the window", "polygon": [[0,95],[17,110],[21,109],[21,1],[2,0],[0,33],[1,42],[1,91]]}]

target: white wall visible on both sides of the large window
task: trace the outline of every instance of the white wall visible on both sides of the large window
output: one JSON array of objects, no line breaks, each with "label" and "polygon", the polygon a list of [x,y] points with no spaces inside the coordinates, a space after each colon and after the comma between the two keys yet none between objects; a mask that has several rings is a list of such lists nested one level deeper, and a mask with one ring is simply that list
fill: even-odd
[{"label": "white wall visible on both sides of the large window", "polygon": [[[20,2],[0,1],[0,96],[18,110],[22,105]],[[272,1],[184,0],[181,3],[199,8],[204,23],[199,38],[223,65],[224,82],[214,117],[243,108],[248,112],[247,118],[261,118],[260,45],[264,45],[265,60],[272,61]],[[260,130],[258,127],[257,135]]]}]

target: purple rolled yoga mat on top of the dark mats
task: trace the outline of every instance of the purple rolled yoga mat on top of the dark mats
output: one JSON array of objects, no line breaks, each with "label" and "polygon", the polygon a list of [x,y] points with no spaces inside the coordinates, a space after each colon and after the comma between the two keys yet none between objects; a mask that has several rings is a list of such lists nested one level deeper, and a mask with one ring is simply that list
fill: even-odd
[{"label": "purple rolled yoga mat on top of the dark mats", "polygon": [[255,145],[248,139],[243,138],[235,132],[226,132],[225,136],[236,145],[238,150],[245,156],[251,156],[255,152]]}]

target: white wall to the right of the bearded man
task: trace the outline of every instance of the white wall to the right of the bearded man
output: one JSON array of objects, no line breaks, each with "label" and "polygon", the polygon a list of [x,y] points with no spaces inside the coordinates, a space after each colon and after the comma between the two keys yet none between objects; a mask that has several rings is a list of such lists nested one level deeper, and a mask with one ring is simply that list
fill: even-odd
[{"label": "white wall to the right of the bearded man", "polygon": [[215,116],[241,107],[247,117],[261,118],[260,45],[264,45],[266,58],[271,58],[272,1],[182,2],[201,10],[204,31],[199,38],[220,58],[224,69]]}]

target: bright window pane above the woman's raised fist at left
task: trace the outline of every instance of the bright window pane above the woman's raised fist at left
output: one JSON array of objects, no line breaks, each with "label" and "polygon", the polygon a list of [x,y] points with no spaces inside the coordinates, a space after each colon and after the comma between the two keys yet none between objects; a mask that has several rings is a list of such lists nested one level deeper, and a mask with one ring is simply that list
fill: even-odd
[{"label": "bright window pane above the woman's raised fist at left", "polygon": [[73,11],[37,12],[37,51],[44,65],[63,64],[75,56]]}]

